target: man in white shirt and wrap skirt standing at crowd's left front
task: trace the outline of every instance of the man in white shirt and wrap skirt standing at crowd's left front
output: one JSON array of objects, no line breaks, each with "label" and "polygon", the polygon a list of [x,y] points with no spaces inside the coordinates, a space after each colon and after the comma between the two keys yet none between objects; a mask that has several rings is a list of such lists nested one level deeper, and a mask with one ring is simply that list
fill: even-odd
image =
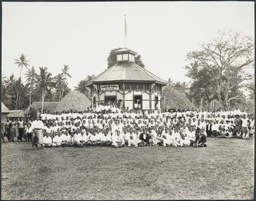
[{"label": "man in white shirt and wrap skirt standing at crowd's left front", "polygon": [[39,120],[39,116],[35,119],[35,121],[32,122],[31,127],[33,128],[33,140],[32,140],[32,148],[37,147],[37,145],[41,145],[43,149],[45,149],[43,145],[43,129],[44,129],[44,124],[43,121]]}]

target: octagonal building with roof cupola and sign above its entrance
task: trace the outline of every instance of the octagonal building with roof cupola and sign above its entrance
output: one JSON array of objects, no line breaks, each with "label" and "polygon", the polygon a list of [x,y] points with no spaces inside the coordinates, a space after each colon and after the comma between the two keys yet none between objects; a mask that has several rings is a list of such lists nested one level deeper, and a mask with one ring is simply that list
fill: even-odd
[{"label": "octagonal building with roof cupola and sign above its entrance", "polygon": [[118,100],[129,109],[160,109],[167,82],[135,64],[136,52],[122,48],[114,53],[116,64],[86,84],[92,107]]}]

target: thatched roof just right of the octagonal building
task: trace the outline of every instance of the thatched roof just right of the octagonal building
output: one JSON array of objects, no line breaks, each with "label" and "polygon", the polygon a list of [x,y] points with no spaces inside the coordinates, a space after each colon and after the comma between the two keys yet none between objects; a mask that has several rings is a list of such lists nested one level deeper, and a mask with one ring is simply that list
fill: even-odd
[{"label": "thatched roof just right of the octagonal building", "polygon": [[185,94],[173,88],[165,88],[162,94],[161,107],[164,109],[164,96],[166,96],[166,109],[188,109],[195,107]]}]

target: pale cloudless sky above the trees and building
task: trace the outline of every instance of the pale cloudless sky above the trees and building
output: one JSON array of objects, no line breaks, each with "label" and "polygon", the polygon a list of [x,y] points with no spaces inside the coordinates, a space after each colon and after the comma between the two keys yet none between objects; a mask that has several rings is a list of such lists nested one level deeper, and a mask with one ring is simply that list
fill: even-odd
[{"label": "pale cloudless sky above the trees and building", "polygon": [[124,14],[126,47],[147,70],[175,82],[190,82],[186,54],[217,31],[255,36],[253,2],[3,2],[2,9],[2,75],[18,78],[14,59],[25,54],[37,72],[46,66],[55,76],[70,66],[72,90],[107,68],[110,50],[124,47]]}]

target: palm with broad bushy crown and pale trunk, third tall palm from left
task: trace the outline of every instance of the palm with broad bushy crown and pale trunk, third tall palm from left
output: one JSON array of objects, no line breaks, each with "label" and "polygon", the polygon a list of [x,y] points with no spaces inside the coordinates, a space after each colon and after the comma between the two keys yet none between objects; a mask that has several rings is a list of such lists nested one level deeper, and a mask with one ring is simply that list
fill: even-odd
[{"label": "palm with broad bushy crown and pale trunk, third tall palm from left", "polygon": [[47,92],[53,88],[53,78],[51,72],[47,72],[47,67],[39,67],[40,74],[36,75],[39,90],[42,90],[42,111]]}]

